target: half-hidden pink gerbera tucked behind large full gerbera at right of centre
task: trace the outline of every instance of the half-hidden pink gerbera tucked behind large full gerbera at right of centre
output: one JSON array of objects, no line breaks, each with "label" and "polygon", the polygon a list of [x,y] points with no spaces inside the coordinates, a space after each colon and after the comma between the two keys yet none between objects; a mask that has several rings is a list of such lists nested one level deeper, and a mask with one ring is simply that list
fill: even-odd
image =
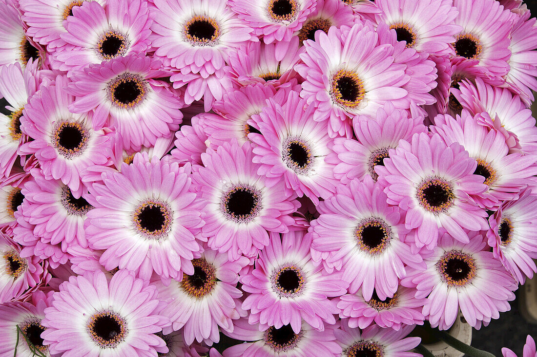
[{"label": "half-hidden pink gerbera tucked behind large full gerbera at right of centre", "polygon": [[352,178],[362,180],[367,174],[376,181],[375,166],[384,165],[388,150],[397,147],[400,139],[409,140],[414,133],[427,130],[423,116],[409,117],[407,110],[395,109],[391,103],[379,108],[375,118],[357,115],[352,124],[357,140],[334,139],[334,154],[328,158],[337,164],[334,174],[343,183]]}]

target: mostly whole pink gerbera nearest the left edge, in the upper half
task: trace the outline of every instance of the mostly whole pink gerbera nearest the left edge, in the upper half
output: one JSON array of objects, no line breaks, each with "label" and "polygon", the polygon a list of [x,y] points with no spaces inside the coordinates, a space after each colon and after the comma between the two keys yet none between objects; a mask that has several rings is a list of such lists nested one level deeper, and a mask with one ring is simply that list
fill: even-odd
[{"label": "mostly whole pink gerbera nearest the left edge, in the upper half", "polygon": [[108,161],[110,141],[103,130],[92,129],[91,115],[69,111],[75,97],[64,91],[67,84],[66,77],[56,77],[25,106],[21,131],[33,140],[19,150],[35,154],[47,180],[61,180],[75,197],[80,197],[81,171]]}]

